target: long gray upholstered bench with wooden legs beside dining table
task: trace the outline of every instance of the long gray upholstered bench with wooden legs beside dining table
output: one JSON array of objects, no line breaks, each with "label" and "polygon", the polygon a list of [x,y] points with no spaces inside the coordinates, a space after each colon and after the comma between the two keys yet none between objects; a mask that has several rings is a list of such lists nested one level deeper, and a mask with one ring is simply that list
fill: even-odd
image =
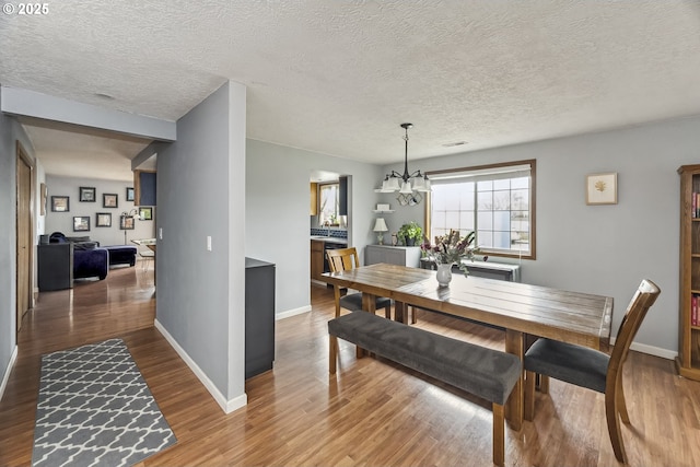
[{"label": "long gray upholstered bench with wooden legs beside dining table", "polygon": [[340,338],[490,401],[493,410],[493,464],[503,465],[503,406],[522,374],[516,355],[366,312],[354,312],[329,320],[328,334],[330,374],[336,373]]}]

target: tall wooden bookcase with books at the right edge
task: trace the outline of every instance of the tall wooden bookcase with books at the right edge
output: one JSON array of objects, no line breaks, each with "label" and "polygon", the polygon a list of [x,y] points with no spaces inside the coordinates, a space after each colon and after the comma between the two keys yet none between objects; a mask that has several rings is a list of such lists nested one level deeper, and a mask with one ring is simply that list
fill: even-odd
[{"label": "tall wooden bookcase with books at the right edge", "polygon": [[676,369],[700,381],[700,165],[684,165],[680,174],[680,312]]}]

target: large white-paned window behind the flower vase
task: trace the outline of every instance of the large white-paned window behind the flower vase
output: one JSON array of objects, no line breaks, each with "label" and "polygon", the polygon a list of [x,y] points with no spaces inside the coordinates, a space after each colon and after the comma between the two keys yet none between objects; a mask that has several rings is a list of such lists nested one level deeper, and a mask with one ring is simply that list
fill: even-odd
[{"label": "large white-paned window behind the flower vase", "polygon": [[451,229],[476,231],[488,255],[535,259],[535,160],[428,174],[431,240]]}]

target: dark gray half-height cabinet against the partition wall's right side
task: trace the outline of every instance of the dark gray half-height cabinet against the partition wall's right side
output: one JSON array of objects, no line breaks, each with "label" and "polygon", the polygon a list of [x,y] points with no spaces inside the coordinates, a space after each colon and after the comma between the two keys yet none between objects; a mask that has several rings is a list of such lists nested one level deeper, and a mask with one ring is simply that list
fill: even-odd
[{"label": "dark gray half-height cabinet against the partition wall's right side", "polygon": [[275,265],[245,258],[245,377],[272,370]]}]

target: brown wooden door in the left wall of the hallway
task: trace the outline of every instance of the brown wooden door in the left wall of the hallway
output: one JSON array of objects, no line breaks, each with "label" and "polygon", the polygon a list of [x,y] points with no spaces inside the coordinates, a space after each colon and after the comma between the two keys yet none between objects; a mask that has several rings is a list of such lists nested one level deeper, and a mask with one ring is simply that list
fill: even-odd
[{"label": "brown wooden door in the left wall of the hallway", "polygon": [[24,314],[32,307],[32,162],[18,142],[16,196],[16,310],[18,332]]}]

